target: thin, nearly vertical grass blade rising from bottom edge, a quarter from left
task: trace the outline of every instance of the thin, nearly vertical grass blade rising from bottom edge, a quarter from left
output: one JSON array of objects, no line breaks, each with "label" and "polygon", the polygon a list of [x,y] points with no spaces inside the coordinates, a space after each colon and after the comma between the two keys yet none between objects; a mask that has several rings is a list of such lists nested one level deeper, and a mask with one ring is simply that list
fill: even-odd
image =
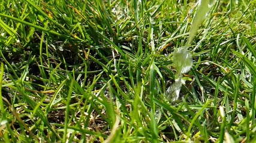
[{"label": "thin, nearly vertical grass blade rising from bottom edge, a quarter from left", "polygon": [[68,133],[68,120],[69,120],[69,113],[70,113],[70,100],[71,95],[73,91],[73,85],[74,85],[74,78],[70,76],[71,83],[70,83],[70,89],[68,90],[68,96],[67,96],[67,104],[66,104],[66,113],[65,113],[65,124],[64,124],[64,136],[63,136],[63,142],[67,141],[67,133]]}]

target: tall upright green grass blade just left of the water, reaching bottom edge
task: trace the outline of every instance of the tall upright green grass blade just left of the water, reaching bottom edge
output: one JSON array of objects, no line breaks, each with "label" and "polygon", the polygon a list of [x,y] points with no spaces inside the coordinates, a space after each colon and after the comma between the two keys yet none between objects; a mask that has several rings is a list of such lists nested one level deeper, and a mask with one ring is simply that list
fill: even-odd
[{"label": "tall upright green grass blade just left of the water, reaching bottom edge", "polygon": [[155,98],[155,69],[154,69],[154,63],[150,66],[150,79],[149,79],[149,94],[150,94],[150,126],[151,126],[151,135],[152,135],[152,142],[158,142],[158,128],[155,121],[155,104],[154,104],[154,98]]}]

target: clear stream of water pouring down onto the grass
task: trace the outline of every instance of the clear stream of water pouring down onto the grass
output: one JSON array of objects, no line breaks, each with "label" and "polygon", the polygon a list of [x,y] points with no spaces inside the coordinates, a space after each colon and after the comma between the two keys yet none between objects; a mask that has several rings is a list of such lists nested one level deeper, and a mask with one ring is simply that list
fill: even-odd
[{"label": "clear stream of water pouring down onto the grass", "polygon": [[188,47],[191,45],[192,39],[194,39],[200,24],[203,22],[210,8],[215,4],[215,0],[199,0],[198,4],[199,7],[192,22],[186,45],[175,49],[173,53],[173,64],[176,67],[175,82],[168,87],[165,93],[167,99],[173,102],[179,99],[179,92],[183,83],[182,75],[187,73],[192,67],[192,56],[188,51]]}]

